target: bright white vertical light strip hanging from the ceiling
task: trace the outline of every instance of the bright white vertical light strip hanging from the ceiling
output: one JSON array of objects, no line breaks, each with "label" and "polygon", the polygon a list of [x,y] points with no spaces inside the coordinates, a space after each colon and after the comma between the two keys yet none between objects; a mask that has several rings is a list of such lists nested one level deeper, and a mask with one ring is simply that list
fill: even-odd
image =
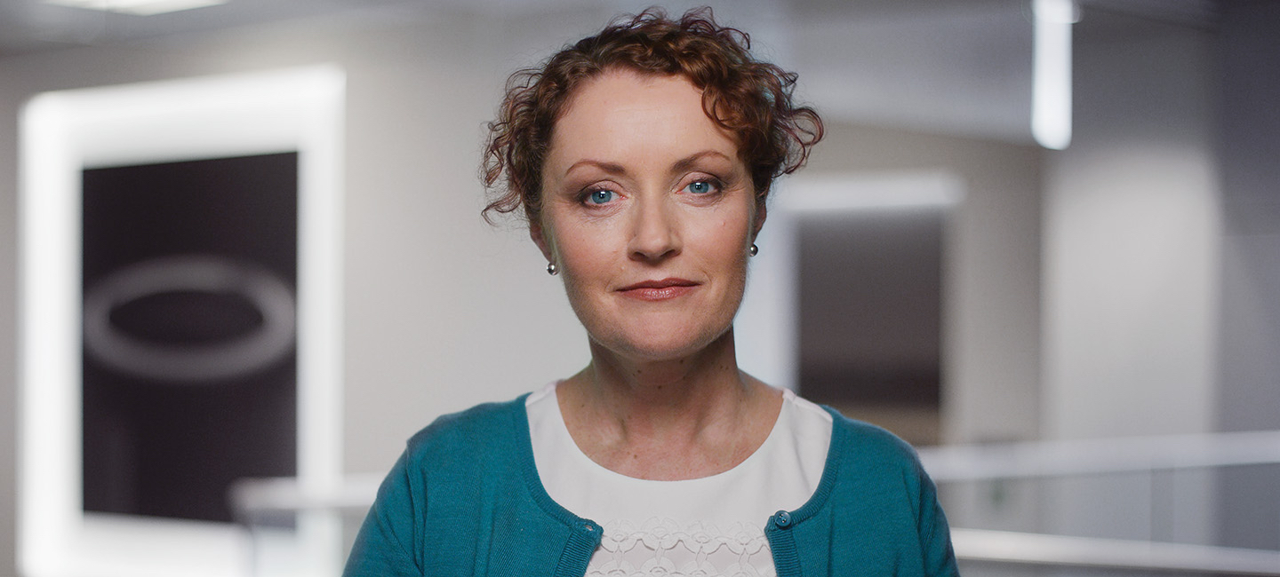
[{"label": "bright white vertical light strip hanging from the ceiling", "polygon": [[1041,146],[1064,150],[1071,143],[1073,0],[1032,0],[1036,46],[1032,79],[1032,136]]}]

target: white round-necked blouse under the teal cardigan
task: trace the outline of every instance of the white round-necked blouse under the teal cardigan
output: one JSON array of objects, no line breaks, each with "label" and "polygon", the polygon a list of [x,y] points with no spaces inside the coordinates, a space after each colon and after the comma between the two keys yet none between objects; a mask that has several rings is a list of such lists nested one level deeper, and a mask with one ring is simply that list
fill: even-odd
[{"label": "white round-necked blouse under the teal cardigan", "polygon": [[595,576],[765,576],[773,558],[764,525],[818,487],[831,445],[831,415],[790,390],[755,453],[709,477],[648,481],[591,461],[568,434],[552,383],[529,395],[534,463],[547,493],[604,527],[588,565]]}]

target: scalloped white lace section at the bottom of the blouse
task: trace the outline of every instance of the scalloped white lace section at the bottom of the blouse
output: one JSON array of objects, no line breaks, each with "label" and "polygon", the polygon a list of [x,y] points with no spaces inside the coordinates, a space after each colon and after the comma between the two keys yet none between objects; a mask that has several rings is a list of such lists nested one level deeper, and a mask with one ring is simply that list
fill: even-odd
[{"label": "scalloped white lace section at the bottom of the blouse", "polygon": [[588,577],[774,574],[762,527],[733,523],[721,530],[658,517],[640,526],[628,519],[605,523],[600,548],[586,568]]}]

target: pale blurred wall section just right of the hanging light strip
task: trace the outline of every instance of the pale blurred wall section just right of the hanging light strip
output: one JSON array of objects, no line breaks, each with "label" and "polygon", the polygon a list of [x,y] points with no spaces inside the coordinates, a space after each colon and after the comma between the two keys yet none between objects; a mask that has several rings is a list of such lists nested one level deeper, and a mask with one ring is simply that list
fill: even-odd
[{"label": "pale blurred wall section just right of the hanging light strip", "polygon": [[[1208,32],[1085,10],[1075,134],[1046,157],[1043,432],[1208,432],[1221,262]],[[1068,481],[1050,530],[1203,541],[1204,477]],[[1124,489],[1128,487],[1128,489]]]}]

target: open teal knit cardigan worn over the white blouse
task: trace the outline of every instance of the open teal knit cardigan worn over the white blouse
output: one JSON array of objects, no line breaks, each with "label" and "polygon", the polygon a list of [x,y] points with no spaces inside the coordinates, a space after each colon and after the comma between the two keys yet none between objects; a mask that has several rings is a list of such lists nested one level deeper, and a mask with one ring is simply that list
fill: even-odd
[{"label": "open teal knit cardigan worn over the white blouse", "polygon": [[[957,574],[915,452],[827,411],[835,426],[817,491],[764,528],[778,577]],[[580,577],[600,536],[543,487],[520,397],[440,417],[410,439],[343,574]]]}]

